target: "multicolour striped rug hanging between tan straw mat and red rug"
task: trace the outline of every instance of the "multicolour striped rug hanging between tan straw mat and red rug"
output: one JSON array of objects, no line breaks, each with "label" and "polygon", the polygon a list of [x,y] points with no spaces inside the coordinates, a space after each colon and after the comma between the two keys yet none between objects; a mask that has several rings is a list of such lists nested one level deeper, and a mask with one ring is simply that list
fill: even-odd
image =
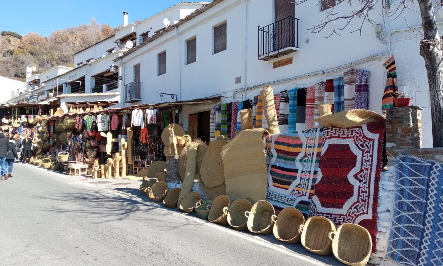
[{"label": "multicolour striped rug hanging between tan straw mat and red rug", "polygon": [[309,215],[322,152],[323,129],[266,137],[268,193],[276,210],[295,207]]}]

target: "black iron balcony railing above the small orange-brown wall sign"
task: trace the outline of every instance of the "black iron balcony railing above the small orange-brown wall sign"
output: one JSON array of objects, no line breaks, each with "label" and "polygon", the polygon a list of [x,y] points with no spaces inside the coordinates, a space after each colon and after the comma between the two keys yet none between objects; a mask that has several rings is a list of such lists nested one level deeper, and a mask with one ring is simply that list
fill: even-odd
[{"label": "black iron balcony railing above the small orange-brown wall sign", "polygon": [[288,16],[258,29],[258,59],[268,61],[299,51],[299,19]]}]

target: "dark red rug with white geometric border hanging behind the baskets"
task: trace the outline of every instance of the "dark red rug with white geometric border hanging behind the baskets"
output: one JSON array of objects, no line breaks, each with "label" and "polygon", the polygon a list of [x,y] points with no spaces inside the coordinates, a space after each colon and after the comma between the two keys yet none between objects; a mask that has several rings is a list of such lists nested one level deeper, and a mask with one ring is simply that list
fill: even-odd
[{"label": "dark red rug with white geometric border hanging behind the baskets", "polygon": [[323,131],[323,149],[311,215],[337,225],[356,223],[377,242],[378,186],[385,121]]}]

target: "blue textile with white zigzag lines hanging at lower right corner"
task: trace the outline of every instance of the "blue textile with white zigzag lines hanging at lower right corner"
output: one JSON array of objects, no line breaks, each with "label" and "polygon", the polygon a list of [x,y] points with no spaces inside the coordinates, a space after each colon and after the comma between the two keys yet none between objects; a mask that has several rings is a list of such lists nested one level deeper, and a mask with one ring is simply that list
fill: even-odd
[{"label": "blue textile with white zigzag lines hanging at lower right corner", "polygon": [[386,256],[401,265],[443,265],[443,164],[398,156]]}]

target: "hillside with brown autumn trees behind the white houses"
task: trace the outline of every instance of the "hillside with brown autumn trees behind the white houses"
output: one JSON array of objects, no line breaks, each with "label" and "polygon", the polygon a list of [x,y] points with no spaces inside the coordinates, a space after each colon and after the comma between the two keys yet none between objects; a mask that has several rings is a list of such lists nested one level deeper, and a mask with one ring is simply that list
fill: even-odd
[{"label": "hillside with brown autumn trees behind the white houses", "polygon": [[22,36],[2,31],[0,76],[24,81],[27,65],[36,66],[37,73],[54,66],[74,67],[74,53],[109,37],[118,28],[92,19],[89,24],[56,30],[49,37],[34,32]]}]

